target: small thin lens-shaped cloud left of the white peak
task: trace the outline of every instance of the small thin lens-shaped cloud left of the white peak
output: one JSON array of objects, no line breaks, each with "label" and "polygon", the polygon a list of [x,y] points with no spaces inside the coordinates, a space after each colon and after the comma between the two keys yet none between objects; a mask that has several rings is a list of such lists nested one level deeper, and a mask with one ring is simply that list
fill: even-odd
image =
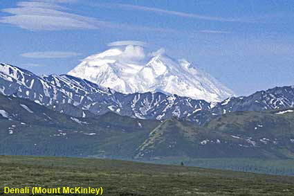
[{"label": "small thin lens-shaped cloud left of the white peak", "polygon": [[46,52],[33,52],[33,53],[23,53],[22,57],[29,58],[66,58],[81,55],[75,52],[63,52],[63,51],[46,51]]}]

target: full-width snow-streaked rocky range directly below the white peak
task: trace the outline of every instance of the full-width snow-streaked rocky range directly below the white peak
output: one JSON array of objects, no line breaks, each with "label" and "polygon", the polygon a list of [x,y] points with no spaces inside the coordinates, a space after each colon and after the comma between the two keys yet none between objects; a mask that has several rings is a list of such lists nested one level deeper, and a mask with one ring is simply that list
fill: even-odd
[{"label": "full-width snow-streaked rocky range directly below the white peak", "polygon": [[231,97],[215,104],[162,92],[124,94],[71,75],[38,76],[10,64],[0,64],[0,93],[32,100],[75,117],[115,112],[120,116],[162,121],[176,116],[196,125],[230,112],[294,107],[293,86]]}]

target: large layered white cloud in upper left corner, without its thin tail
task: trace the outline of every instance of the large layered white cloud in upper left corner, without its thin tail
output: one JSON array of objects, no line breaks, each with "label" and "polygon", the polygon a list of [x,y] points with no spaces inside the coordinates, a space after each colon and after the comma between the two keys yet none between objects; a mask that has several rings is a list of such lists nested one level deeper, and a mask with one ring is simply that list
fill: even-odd
[{"label": "large layered white cloud in upper left corner, without its thin tail", "polygon": [[95,29],[102,23],[91,17],[65,12],[66,8],[52,1],[21,1],[17,6],[3,9],[12,16],[2,17],[0,22],[28,30]]}]

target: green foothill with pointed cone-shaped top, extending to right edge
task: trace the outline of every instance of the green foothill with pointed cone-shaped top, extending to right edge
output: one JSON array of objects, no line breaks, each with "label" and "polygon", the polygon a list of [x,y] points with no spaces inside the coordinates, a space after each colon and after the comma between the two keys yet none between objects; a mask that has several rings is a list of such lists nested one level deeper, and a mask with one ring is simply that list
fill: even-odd
[{"label": "green foothill with pointed cone-shaped top, extending to right edge", "polygon": [[232,112],[203,127],[172,118],[149,134],[136,158],[294,158],[293,111]]}]

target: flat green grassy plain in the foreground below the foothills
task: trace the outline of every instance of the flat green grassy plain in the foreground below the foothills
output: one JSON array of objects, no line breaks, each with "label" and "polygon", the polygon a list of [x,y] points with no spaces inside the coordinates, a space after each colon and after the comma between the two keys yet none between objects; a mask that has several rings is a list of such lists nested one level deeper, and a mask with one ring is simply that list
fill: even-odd
[{"label": "flat green grassy plain in the foreground below the foothills", "polygon": [[113,196],[294,193],[294,177],[66,157],[0,156],[0,185],[0,195],[4,186],[102,187],[103,195]]}]

